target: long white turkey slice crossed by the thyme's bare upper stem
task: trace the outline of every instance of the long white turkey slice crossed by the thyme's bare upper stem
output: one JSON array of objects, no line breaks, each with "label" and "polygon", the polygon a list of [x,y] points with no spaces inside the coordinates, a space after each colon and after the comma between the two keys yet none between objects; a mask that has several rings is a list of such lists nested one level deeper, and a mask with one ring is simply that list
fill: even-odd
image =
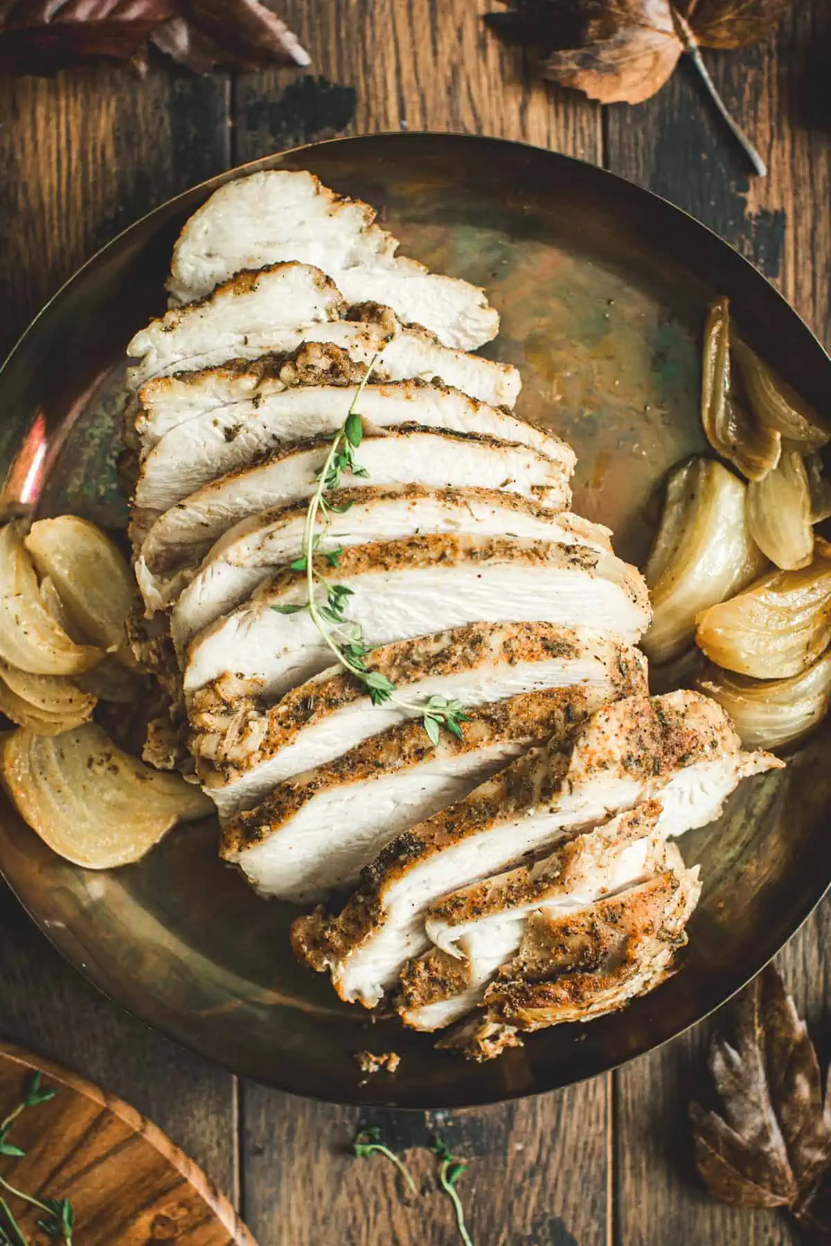
[{"label": "long white turkey slice crossed by the thyme's bare upper stem", "polygon": [[[179,378],[168,380],[178,383]],[[208,411],[171,429],[140,466],[133,526],[147,531],[151,520],[182,498],[263,456],[308,439],[330,440],[346,417],[350,395],[355,395],[353,388],[297,386],[273,395],[259,407],[252,400]],[[249,410],[240,411],[240,406]],[[476,404],[456,390],[424,381],[368,386],[360,399],[360,414],[375,430],[417,422],[421,429],[498,437],[522,445],[529,454],[549,460],[551,487],[558,490],[558,498],[567,495],[574,467],[574,452],[569,446],[541,436],[529,424],[496,407]],[[439,468],[434,467],[432,475],[440,475]],[[554,505],[559,505],[559,500]]]}]

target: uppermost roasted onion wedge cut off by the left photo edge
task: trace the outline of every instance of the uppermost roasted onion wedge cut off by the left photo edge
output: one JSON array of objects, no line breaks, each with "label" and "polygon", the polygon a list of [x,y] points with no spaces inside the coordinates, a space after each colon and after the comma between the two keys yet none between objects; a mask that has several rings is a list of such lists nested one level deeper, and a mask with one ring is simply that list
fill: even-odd
[{"label": "uppermost roasted onion wedge cut off by the left photo edge", "polygon": [[88,670],[102,650],[76,644],[44,606],[19,526],[0,528],[0,658],[35,675]]}]

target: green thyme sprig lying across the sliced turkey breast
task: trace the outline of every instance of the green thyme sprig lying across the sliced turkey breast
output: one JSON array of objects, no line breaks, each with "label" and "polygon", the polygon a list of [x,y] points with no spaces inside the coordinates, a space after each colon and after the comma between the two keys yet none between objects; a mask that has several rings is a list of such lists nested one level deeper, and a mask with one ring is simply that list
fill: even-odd
[{"label": "green thyme sprig lying across the sliced turkey breast", "polygon": [[[379,354],[376,353],[373,355],[361,378],[361,383],[346,412],[346,419],[335,434],[326,460],[318,473],[318,487],[306,510],[303,528],[303,553],[292,563],[293,571],[305,572],[306,601],[303,606],[273,606],[272,609],[279,614],[297,614],[300,611],[308,609],[325,644],[331,649],[340,665],[345,667],[363,684],[369,693],[373,705],[389,703],[410,714],[416,714],[421,718],[424,729],[435,745],[439,744],[442,726],[451,735],[457,736],[460,740],[462,739],[461,724],[468,721],[462,703],[437,694],[422,704],[405,700],[396,695],[396,685],[391,679],[387,679],[379,670],[368,670],[364,659],[370,649],[364,639],[363,628],[359,623],[350,623],[345,613],[346,602],[353,596],[353,589],[346,584],[330,583],[315,568],[315,554],[329,527],[330,515],[343,515],[353,505],[351,502],[346,502],[343,506],[336,506],[325,497],[325,493],[339,487],[340,477],[344,472],[369,478],[366,468],[355,460],[355,451],[364,437],[364,426],[358,414],[358,404],[366,383],[373,375],[378,359]],[[319,513],[323,513],[324,517],[323,528],[316,528]],[[324,553],[323,561],[325,566],[336,568],[340,564],[343,552],[343,548],[339,547]],[[321,604],[316,599],[318,584],[325,589],[325,604]]]}]

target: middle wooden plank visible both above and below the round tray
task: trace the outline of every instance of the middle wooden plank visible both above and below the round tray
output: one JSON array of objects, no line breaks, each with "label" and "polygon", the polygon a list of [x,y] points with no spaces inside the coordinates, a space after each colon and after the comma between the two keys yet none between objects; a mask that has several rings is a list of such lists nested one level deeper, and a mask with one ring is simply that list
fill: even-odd
[{"label": "middle wooden plank visible both above and below the round tray", "polygon": [[[485,29],[481,14],[491,7],[490,0],[284,0],[280,12],[311,54],[314,76],[237,82],[237,159],[339,133],[411,128],[496,135],[598,161],[599,111],[532,82],[522,55]],[[601,1079],[447,1125],[451,1145],[472,1159],[463,1184],[475,1241],[605,1241],[605,1099]],[[247,1085],[242,1118],[245,1216],[263,1246],[305,1246],[328,1225],[344,1246],[456,1241],[435,1190],[407,1206],[389,1164],[345,1154],[356,1111]],[[432,1124],[400,1113],[373,1119],[427,1179],[431,1159],[412,1148]]]}]

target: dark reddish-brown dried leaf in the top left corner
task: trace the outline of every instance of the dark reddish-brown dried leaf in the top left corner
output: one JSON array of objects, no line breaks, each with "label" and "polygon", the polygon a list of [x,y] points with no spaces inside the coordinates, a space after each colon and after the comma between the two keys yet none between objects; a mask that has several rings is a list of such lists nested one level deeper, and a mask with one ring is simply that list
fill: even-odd
[{"label": "dark reddish-brown dried leaf in the top left corner", "polygon": [[55,74],[98,59],[141,65],[148,41],[198,74],[309,64],[260,0],[16,0],[0,7],[0,72]]}]

